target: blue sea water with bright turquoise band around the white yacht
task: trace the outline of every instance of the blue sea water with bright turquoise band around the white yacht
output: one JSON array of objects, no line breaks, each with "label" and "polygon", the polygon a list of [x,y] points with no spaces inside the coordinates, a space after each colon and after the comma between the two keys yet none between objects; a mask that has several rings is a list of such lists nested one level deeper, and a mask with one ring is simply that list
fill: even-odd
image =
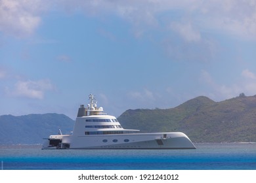
[{"label": "blue sea water with bright turquoise band around the white yacht", "polygon": [[196,144],[196,150],[41,150],[0,146],[2,169],[243,170],[256,169],[256,144]]}]

